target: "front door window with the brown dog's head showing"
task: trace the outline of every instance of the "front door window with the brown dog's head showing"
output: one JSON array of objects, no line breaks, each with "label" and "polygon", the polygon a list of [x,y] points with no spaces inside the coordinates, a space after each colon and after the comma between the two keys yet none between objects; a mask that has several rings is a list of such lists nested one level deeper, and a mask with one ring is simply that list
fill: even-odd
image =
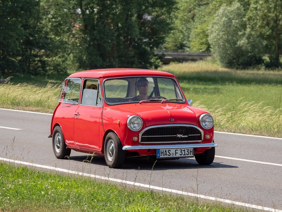
[{"label": "front door window with the brown dog's head showing", "polygon": [[98,79],[84,80],[81,105],[102,105],[101,91]]}]

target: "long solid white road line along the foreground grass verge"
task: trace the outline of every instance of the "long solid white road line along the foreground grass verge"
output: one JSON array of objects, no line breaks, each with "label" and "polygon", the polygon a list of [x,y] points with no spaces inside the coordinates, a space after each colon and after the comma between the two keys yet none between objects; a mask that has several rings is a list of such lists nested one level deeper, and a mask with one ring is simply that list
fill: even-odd
[{"label": "long solid white road line along the foreground grass verge", "polygon": [[45,165],[40,165],[40,164],[35,164],[35,163],[23,162],[23,161],[19,161],[19,160],[11,160],[11,159],[7,159],[7,158],[0,158],[0,160],[12,162],[12,163],[19,163],[19,164],[28,165],[28,166],[40,167],[40,168],[44,168],[44,169],[56,170],[56,171],[59,171],[59,172],[65,172],[65,173],[69,173],[69,174],[77,174],[77,175],[81,175],[81,176],[93,177],[93,178],[103,179],[103,180],[107,180],[107,181],[125,183],[125,184],[140,186],[140,187],[144,187],[144,188],[151,188],[151,189],[155,189],[155,190],[166,191],[166,192],[171,192],[171,193],[176,193],[176,194],[181,194],[181,195],[186,195],[186,196],[199,197],[199,198],[203,198],[203,199],[209,199],[209,200],[214,200],[214,201],[219,201],[219,202],[224,202],[224,203],[230,203],[230,204],[240,205],[240,206],[264,210],[264,211],[282,212],[282,210],[267,208],[267,207],[248,204],[248,203],[244,203],[244,202],[236,202],[236,201],[232,201],[232,200],[228,200],[228,199],[220,199],[220,198],[216,198],[216,197],[209,197],[209,196],[205,196],[205,195],[193,194],[193,193],[169,189],[169,188],[151,186],[151,185],[147,185],[147,184],[143,184],[143,183],[135,183],[135,182],[127,181],[127,180],[108,178],[108,177],[98,176],[98,175],[94,175],[94,174],[86,174],[86,173],[83,173],[83,172],[75,172],[75,171],[68,170],[68,169],[61,169],[61,168],[45,166]]}]

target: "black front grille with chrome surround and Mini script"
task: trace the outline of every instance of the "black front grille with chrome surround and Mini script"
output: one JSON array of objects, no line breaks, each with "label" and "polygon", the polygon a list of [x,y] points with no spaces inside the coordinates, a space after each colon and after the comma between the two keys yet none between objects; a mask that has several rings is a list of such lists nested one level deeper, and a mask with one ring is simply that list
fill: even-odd
[{"label": "black front grille with chrome surround and Mini script", "polygon": [[[154,128],[156,128],[154,130]],[[163,129],[161,129],[163,128]],[[150,130],[150,131],[147,131]],[[154,131],[152,131],[154,130]],[[153,133],[162,133],[163,130],[165,133],[163,135],[154,135]],[[171,132],[173,131],[173,132]],[[188,135],[187,131],[192,133]],[[193,131],[193,132],[191,132]],[[179,132],[179,136],[177,134]],[[180,134],[181,133],[181,134]],[[183,135],[183,133],[186,133]],[[181,135],[181,136],[180,136]],[[144,138],[150,137],[153,141],[147,142],[142,141]],[[156,141],[156,138],[164,138],[164,141]],[[179,139],[183,138],[184,139]],[[142,139],[143,138],[143,139]],[[171,138],[171,139],[169,139]],[[187,139],[186,139],[187,138]],[[196,138],[196,139],[194,139]],[[155,125],[145,128],[139,133],[139,143],[142,144],[157,144],[157,143],[190,143],[190,142],[201,142],[204,139],[204,131],[201,128],[190,125],[190,124],[165,124],[165,125]],[[155,140],[155,141],[154,141]],[[176,141],[177,140],[177,141]]]}]

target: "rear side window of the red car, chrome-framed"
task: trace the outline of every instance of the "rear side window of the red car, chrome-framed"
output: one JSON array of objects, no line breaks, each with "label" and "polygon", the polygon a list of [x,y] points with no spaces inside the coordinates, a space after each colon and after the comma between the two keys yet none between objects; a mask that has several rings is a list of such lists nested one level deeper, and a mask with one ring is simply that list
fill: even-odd
[{"label": "rear side window of the red car, chrome-framed", "polygon": [[81,79],[65,79],[59,95],[59,102],[78,104]]}]

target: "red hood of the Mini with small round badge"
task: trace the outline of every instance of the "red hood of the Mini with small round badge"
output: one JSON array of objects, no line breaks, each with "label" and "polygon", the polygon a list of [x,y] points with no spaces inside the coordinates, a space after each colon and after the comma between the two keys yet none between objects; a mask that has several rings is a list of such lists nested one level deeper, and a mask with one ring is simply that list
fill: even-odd
[{"label": "red hood of the Mini with small round badge", "polygon": [[[196,115],[188,105],[175,103],[143,103],[118,105],[111,108],[118,112],[129,112],[144,119],[145,126],[161,124],[192,124],[196,125]],[[173,120],[172,120],[173,119]]]}]

